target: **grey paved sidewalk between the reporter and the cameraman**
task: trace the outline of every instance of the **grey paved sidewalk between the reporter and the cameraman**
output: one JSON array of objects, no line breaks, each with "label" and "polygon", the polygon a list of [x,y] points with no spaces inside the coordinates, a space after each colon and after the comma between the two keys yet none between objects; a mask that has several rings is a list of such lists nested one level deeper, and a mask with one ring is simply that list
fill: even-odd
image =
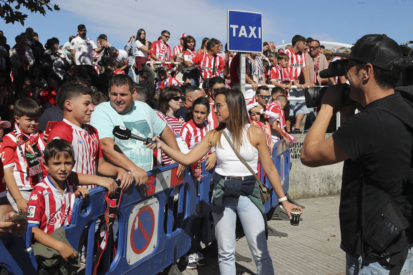
[{"label": "grey paved sidewalk between the reporter and the cameraman", "polygon": [[[344,251],[339,248],[339,195],[301,199],[297,200],[297,203],[306,207],[299,226],[291,226],[290,221],[268,221],[269,226],[288,233],[288,237],[268,237],[268,250],[273,259],[274,273],[344,275],[346,258]],[[235,251],[252,258],[245,237],[236,242]],[[186,269],[182,273],[219,274],[217,256],[206,256],[206,259],[206,266],[194,270]],[[236,262],[236,267],[237,274],[256,274],[254,261]]]}]

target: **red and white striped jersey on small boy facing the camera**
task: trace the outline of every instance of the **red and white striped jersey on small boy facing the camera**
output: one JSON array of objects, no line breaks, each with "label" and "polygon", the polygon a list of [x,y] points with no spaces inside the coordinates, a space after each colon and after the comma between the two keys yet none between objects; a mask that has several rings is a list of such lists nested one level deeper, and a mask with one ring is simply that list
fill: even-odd
[{"label": "red and white striped jersey on small boy facing the camera", "polygon": [[40,228],[47,234],[57,228],[68,225],[72,216],[73,204],[76,200],[76,186],[66,180],[64,195],[57,190],[55,184],[46,176],[36,184],[28,200],[28,223]]}]

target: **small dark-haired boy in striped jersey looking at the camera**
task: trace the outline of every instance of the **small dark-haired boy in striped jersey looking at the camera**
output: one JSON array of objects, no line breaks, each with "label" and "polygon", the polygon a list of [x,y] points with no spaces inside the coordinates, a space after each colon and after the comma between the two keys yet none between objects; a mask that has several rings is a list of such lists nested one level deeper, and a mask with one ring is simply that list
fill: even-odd
[{"label": "small dark-haired boy in striped jersey looking at the camera", "polygon": [[60,261],[67,261],[70,266],[67,271],[74,271],[73,268],[80,268],[80,262],[61,227],[70,223],[76,198],[83,199],[89,191],[85,187],[76,189],[76,185],[67,180],[75,165],[73,147],[69,142],[62,139],[48,142],[43,165],[49,173],[34,186],[27,207],[30,213],[27,220],[32,225],[33,251],[36,260],[43,263],[47,259],[43,255],[44,246],[55,249],[54,257],[48,257],[59,259],[55,256],[60,254]]}]

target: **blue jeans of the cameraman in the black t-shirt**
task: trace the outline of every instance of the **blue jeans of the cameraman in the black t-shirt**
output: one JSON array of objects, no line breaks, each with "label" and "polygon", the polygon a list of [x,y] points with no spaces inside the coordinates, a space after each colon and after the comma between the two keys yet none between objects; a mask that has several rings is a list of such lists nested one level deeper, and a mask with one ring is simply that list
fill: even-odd
[{"label": "blue jeans of the cameraman in the black t-shirt", "polygon": [[[413,249],[409,248],[406,262],[401,268],[400,275],[411,273],[413,264]],[[389,274],[389,268],[377,263],[376,259],[364,258],[363,269],[361,268],[361,256],[351,256],[346,254],[346,275],[385,275]]]}]

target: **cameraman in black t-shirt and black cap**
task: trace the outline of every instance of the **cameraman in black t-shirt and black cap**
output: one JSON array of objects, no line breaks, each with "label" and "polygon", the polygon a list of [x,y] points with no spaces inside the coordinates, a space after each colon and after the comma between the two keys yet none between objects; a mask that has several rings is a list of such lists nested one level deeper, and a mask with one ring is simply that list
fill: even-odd
[{"label": "cameraman in black t-shirt and black cap", "polygon": [[[386,214],[381,215],[385,205],[403,209],[411,166],[413,137],[402,121],[413,125],[413,109],[399,92],[394,92],[404,68],[403,54],[386,35],[365,35],[350,54],[335,55],[349,58],[346,78],[350,98],[363,111],[354,114],[356,103],[344,106],[344,84],[329,88],[304,140],[301,162],[318,167],[344,161],[339,219],[346,274],[372,274],[371,270],[408,274],[413,263],[411,240],[403,230],[408,221],[404,219],[404,228],[396,225],[401,231],[397,234],[396,226],[384,219]],[[397,113],[403,120],[380,109],[388,106],[400,110]],[[330,119],[337,112],[342,117],[342,126],[325,139]],[[392,212],[392,217],[397,216],[396,212]],[[403,220],[403,210],[398,214]],[[377,215],[379,219],[375,219]],[[381,231],[371,236],[374,228]],[[388,236],[393,238],[387,241]],[[382,249],[380,242],[387,242],[381,244]]]}]

